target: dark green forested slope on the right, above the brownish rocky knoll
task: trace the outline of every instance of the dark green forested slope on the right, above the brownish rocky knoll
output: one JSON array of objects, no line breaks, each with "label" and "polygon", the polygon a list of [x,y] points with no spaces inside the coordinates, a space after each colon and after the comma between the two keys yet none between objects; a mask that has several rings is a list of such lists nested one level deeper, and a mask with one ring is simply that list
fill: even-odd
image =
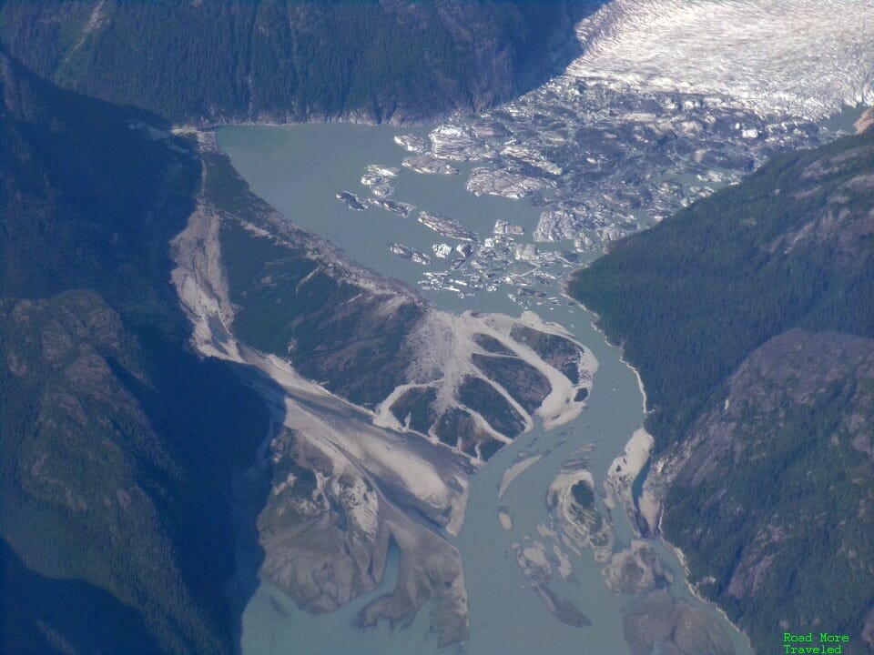
[{"label": "dark green forested slope on the right, above the brownish rocky knoll", "polygon": [[640,371],[658,451],[767,339],[793,327],[874,337],[874,187],[853,183],[874,170],[872,143],[869,131],[779,156],[572,277],[571,295]]}]

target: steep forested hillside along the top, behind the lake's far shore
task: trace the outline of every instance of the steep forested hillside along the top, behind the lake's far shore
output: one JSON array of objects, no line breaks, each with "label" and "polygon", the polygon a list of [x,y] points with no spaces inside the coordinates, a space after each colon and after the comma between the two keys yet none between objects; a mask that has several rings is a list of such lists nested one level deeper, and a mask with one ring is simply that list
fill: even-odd
[{"label": "steep forested hillside along the top, behind the lake's far shore", "polygon": [[481,109],[574,55],[597,3],[29,2],[0,39],[60,86],[174,122],[416,121]]}]

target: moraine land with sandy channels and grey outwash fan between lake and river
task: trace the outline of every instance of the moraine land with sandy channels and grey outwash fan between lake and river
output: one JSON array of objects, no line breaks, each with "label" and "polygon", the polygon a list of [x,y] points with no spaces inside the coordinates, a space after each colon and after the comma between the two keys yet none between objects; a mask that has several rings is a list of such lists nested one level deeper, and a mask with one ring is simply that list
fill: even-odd
[{"label": "moraine land with sandy channels and grey outwash fan between lake and river", "polygon": [[[283,414],[265,453],[259,575],[312,612],[374,589],[389,544],[393,590],[361,625],[432,603],[442,645],[467,639],[462,559],[468,478],[534,425],[584,408],[597,362],[563,328],[439,311],[348,259],[249,191],[198,132],[204,184],[173,241],[172,279],[205,355],[275,384]],[[258,383],[257,383],[258,384]]]}]

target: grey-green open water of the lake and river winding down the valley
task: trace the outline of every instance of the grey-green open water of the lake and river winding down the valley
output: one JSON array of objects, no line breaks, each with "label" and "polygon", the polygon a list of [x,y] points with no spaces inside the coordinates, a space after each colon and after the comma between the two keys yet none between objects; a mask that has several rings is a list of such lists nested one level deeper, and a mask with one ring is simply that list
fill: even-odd
[{"label": "grey-green open water of the lake and river winding down the valley", "polygon": [[[407,218],[380,207],[351,211],[335,197],[341,191],[361,198],[370,196],[368,188],[360,182],[365,167],[380,164],[401,168],[401,160],[410,156],[393,143],[392,136],[426,133],[424,128],[401,130],[350,124],[234,126],[220,128],[218,140],[252,191],[282,215],[328,238],[362,265],[415,286],[422,279],[422,265],[392,254],[388,244],[399,242],[432,256],[433,244],[456,243],[422,226],[416,220],[419,210],[454,217],[463,226],[476,230],[481,238],[490,237],[495,219],[501,218],[525,228],[525,236],[519,237],[523,243],[530,243],[539,215],[539,210],[525,201],[496,196],[477,198],[470,194],[464,187],[472,167],[469,164],[457,165],[462,170],[459,176],[422,175],[401,169],[391,180],[395,188],[391,199],[417,206]],[[446,261],[432,262],[432,268],[439,267],[445,269]],[[564,275],[570,270],[568,267]],[[623,453],[626,442],[644,418],[643,398],[634,371],[621,361],[619,350],[595,331],[591,325],[593,317],[560,297],[560,280],[553,286],[551,293],[559,297],[559,302],[532,302],[528,307],[544,320],[560,323],[573,332],[595,354],[599,368],[588,407],[578,418],[549,432],[535,428],[524,434],[471,479],[464,526],[458,538],[451,539],[462,552],[470,639],[462,646],[438,649],[436,635],[429,630],[429,606],[409,626],[391,629],[382,623],[363,631],[352,627],[358,610],[393,588],[397,577],[395,554],[380,589],[330,614],[311,616],[298,610],[279,590],[262,583],[243,615],[243,655],[630,652],[623,636],[621,611],[635,596],[615,594],[607,588],[602,575],[604,565],[595,562],[591,550],[584,550],[581,557],[572,554],[572,581],[563,582],[556,576],[551,585],[559,596],[573,601],[592,621],[588,627],[572,627],[557,620],[531,589],[511,550],[513,544],[522,543],[526,536],[539,539],[536,528],[548,516],[546,490],[562,465],[579,457],[579,448],[594,444],[585,456],[600,489],[610,464]],[[434,306],[447,311],[497,312],[513,317],[522,311],[507,296],[506,287],[491,293],[483,289],[468,297],[445,290],[422,293]],[[536,454],[543,457],[514,479],[503,499],[498,499],[504,470],[518,459]],[[602,500],[598,502],[606,515],[609,510]],[[498,519],[499,507],[509,508],[512,529],[503,529]],[[625,512],[617,507],[611,517],[615,549],[625,548],[634,534]],[[696,600],[686,589],[683,569],[671,550],[660,541],[650,543],[674,575],[670,593],[714,617],[738,655],[749,653],[747,640],[714,608]]]}]

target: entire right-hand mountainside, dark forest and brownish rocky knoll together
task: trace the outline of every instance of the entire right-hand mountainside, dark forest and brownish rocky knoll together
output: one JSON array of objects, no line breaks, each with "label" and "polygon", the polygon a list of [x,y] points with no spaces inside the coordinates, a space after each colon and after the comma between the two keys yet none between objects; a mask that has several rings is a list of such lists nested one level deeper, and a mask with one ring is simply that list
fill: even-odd
[{"label": "entire right-hand mountainside, dark forest and brownish rocky knoll together", "polygon": [[874,130],[780,156],[569,291],[639,369],[661,528],[759,652],[874,652]]}]

